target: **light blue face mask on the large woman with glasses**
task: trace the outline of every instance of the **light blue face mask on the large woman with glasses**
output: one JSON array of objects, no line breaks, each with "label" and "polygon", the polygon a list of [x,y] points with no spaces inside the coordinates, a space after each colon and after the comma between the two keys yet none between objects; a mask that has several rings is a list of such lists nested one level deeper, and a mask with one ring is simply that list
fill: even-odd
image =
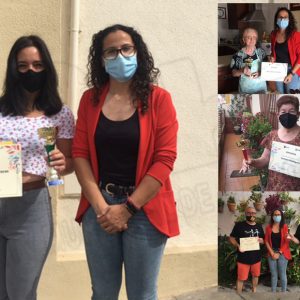
[{"label": "light blue face mask on the large woman with glasses", "polygon": [[104,60],[105,71],[119,82],[130,80],[137,69],[136,54],[124,57],[119,53],[116,59]]}]

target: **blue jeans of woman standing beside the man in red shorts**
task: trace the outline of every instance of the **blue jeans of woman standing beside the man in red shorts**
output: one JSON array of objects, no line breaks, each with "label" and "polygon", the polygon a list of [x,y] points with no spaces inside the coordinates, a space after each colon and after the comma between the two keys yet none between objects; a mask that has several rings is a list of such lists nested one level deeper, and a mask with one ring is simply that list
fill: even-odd
[{"label": "blue jeans of woman standing beside the man in red shorts", "polygon": [[281,291],[286,292],[286,287],[287,287],[286,268],[287,268],[288,260],[281,254],[279,256],[279,259],[272,259],[269,256],[268,262],[271,271],[272,292],[276,292],[278,274],[281,282]]}]

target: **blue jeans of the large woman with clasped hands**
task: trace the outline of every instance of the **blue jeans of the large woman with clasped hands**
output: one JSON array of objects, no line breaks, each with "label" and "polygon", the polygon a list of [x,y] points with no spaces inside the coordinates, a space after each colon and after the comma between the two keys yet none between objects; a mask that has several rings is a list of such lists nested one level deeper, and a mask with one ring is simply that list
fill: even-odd
[{"label": "blue jeans of the large woman with clasped hands", "polygon": [[[102,190],[108,204],[120,204],[126,197],[111,197]],[[167,236],[160,233],[139,211],[128,229],[106,233],[90,207],[83,216],[82,230],[92,281],[92,300],[117,300],[122,282],[122,265],[128,300],[156,300],[157,279]]]}]

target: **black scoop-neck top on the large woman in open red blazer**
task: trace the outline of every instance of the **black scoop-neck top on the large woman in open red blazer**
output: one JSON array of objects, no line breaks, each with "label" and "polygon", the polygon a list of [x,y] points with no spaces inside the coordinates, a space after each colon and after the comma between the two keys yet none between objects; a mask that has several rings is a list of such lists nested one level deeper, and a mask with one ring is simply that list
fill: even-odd
[{"label": "black scoop-neck top on the large woman in open red blazer", "polygon": [[127,120],[112,121],[101,112],[95,132],[100,180],[124,186],[135,185],[140,142],[137,110]]}]

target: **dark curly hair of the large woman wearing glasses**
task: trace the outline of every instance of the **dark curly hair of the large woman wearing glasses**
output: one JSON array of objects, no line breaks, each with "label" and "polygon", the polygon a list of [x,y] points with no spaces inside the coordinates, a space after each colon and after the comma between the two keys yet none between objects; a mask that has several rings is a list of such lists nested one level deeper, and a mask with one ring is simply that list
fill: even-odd
[{"label": "dark curly hair of the large woman wearing glasses", "polygon": [[103,65],[103,41],[112,32],[122,30],[130,35],[137,51],[137,70],[132,78],[130,90],[134,95],[134,102],[140,101],[142,113],[148,109],[148,97],[151,93],[152,83],[157,83],[159,69],[154,67],[154,61],[142,36],[132,27],[115,24],[100,30],[93,35],[92,45],[88,56],[87,85],[95,88],[93,103],[99,101],[99,94],[109,81],[109,75]]}]

